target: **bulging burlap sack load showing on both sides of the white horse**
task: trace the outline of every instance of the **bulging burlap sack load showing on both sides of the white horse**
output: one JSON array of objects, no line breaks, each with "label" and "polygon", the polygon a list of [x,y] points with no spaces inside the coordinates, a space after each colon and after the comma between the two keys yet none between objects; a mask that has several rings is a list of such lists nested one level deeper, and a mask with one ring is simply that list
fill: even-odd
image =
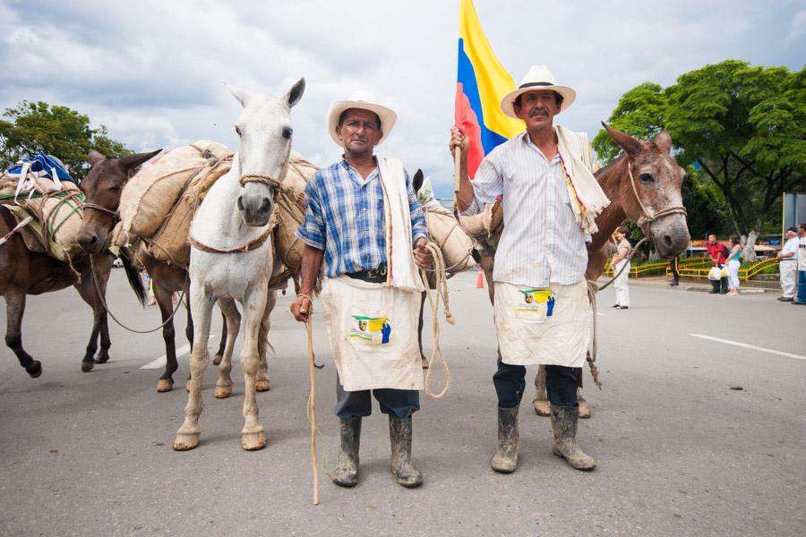
[{"label": "bulging burlap sack load showing on both sides of the white horse", "polygon": [[[151,159],[126,184],[113,242],[141,242],[157,260],[186,268],[193,215],[210,187],[227,174],[232,159],[229,149],[215,141],[196,141]],[[292,272],[302,264],[303,245],[296,238],[296,228],[304,222],[302,193],[316,169],[292,151],[278,192],[272,238]]]}]

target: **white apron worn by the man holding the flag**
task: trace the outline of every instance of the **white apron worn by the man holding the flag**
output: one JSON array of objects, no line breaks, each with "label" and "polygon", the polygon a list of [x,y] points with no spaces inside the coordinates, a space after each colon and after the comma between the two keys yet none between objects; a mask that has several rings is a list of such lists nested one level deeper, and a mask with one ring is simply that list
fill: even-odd
[{"label": "white apron worn by the man holding the flag", "polygon": [[590,344],[585,279],[550,289],[495,282],[495,326],[504,363],[582,367]]}]

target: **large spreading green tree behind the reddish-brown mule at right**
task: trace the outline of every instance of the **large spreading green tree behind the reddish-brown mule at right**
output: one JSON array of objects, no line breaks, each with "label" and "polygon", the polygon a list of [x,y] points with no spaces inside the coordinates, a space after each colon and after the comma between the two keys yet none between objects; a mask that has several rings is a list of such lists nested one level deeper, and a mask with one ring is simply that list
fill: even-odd
[{"label": "large spreading green tree behind the reddish-brown mule at right", "polygon": [[[645,83],[625,93],[610,118],[638,136],[672,135],[682,165],[696,163],[728,209],[732,230],[755,244],[785,191],[806,188],[806,69],[752,67],[728,60],[682,74],[662,90]],[[617,153],[606,132],[601,158]],[[753,248],[745,259],[754,260]]]}]

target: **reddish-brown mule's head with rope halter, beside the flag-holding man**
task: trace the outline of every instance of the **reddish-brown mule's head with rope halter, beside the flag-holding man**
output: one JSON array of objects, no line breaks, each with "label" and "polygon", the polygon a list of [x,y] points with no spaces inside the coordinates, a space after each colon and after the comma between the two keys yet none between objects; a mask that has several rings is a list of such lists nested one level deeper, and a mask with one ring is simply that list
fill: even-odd
[{"label": "reddish-brown mule's head with rope halter, beside the flag-holding man", "polygon": [[629,179],[619,192],[624,212],[655,241],[662,258],[680,255],[691,236],[680,191],[685,171],[671,155],[672,137],[664,131],[653,141],[639,141],[603,125],[626,154]]}]

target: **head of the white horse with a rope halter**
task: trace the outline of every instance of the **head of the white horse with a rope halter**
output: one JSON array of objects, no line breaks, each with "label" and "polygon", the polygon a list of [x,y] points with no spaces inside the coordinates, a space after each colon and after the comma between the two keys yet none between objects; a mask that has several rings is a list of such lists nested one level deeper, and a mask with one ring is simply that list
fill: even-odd
[{"label": "head of the white horse with a rope halter", "polygon": [[244,107],[235,124],[242,187],[238,209],[247,226],[265,226],[274,210],[275,192],[286,175],[293,133],[291,107],[302,98],[305,79],[281,97],[229,90]]}]

